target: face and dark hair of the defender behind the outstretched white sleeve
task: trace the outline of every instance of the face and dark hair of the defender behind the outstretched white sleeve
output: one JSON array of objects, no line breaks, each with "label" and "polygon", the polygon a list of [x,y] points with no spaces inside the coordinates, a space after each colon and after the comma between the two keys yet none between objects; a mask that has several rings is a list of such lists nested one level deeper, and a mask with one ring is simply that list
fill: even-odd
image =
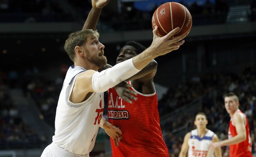
[{"label": "face and dark hair of the defender behind the outstretched white sleeve", "polygon": [[138,55],[137,49],[133,46],[126,45],[118,53],[116,64],[128,60],[136,55]]}]

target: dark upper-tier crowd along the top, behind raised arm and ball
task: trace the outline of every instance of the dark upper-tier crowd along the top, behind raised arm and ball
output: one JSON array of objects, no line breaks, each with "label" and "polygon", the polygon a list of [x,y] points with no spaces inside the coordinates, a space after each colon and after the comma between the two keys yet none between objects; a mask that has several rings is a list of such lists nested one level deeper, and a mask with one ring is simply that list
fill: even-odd
[{"label": "dark upper-tier crowd along the top, behind raised arm and ball", "polygon": [[[191,13],[193,25],[225,23],[229,5],[225,0],[213,3],[205,0],[204,4],[186,4],[180,1]],[[252,0],[252,21],[256,20],[256,2]],[[68,5],[68,6],[67,6]],[[99,29],[111,30],[151,29],[151,18],[159,4],[152,10],[137,9],[134,2],[122,2],[120,8],[104,8],[100,17]],[[87,18],[91,9],[91,0],[0,0],[0,22],[60,22],[78,21],[81,24]],[[145,24],[148,23],[148,24]]]}]

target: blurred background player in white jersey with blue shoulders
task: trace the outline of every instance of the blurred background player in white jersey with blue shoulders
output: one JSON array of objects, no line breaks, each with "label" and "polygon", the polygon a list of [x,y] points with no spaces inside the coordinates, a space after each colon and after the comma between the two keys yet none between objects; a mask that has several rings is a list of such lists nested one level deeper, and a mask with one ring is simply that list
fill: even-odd
[{"label": "blurred background player in white jersey with blue shoulders", "polygon": [[218,142],[218,136],[211,130],[206,128],[208,121],[205,113],[199,112],[196,115],[194,124],[197,129],[188,132],[182,143],[179,157],[222,157],[221,149],[215,149],[214,154],[208,150],[208,146],[212,142]]}]

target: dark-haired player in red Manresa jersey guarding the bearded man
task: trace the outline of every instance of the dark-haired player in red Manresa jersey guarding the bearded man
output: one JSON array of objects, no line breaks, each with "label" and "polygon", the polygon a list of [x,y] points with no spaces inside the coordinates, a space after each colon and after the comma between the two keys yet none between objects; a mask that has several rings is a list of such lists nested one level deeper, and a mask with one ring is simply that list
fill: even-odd
[{"label": "dark-haired player in red Manresa jersey guarding the bearded man", "polygon": [[[84,28],[95,29],[99,15],[100,11],[91,10]],[[137,42],[127,42],[120,50],[116,64],[122,64],[121,62],[145,49]],[[110,67],[106,64],[98,71]],[[127,79],[128,84],[122,82],[108,90],[109,122],[123,132],[120,142],[116,138],[111,140],[113,157],[169,157],[160,127],[157,94],[153,83],[156,72],[157,62],[152,60],[142,71]],[[120,96],[126,97],[125,100]],[[136,101],[132,103],[131,100]]]}]

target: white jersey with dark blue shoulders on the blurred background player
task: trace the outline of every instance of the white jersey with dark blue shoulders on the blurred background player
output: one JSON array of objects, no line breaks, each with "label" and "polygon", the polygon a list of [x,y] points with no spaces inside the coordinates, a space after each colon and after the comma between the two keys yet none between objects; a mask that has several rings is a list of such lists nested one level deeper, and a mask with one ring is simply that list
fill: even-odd
[{"label": "white jersey with dark blue shoulders on the blurred background player", "polygon": [[[188,157],[206,157],[208,146],[213,142],[214,132],[207,130],[206,134],[200,138],[197,129],[191,131],[191,136],[188,139]],[[214,157],[212,155],[212,157]]]}]

